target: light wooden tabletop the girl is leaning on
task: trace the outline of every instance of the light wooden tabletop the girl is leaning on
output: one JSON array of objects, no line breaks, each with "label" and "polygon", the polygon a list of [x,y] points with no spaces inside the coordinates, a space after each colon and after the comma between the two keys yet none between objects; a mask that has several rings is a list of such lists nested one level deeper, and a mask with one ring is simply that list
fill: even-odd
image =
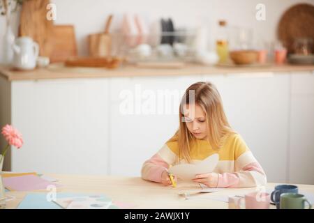
[{"label": "light wooden tabletop the girl is leaning on", "polygon": [[[257,188],[224,188],[211,194],[195,194],[192,199],[185,199],[179,195],[181,190],[197,190],[199,185],[178,182],[177,187],[165,187],[160,183],[142,180],[139,177],[121,176],[80,176],[45,174],[59,180],[57,192],[73,192],[84,194],[104,194],[113,201],[128,203],[132,208],[227,208],[224,201],[214,200],[217,197],[246,194],[254,192]],[[269,183],[268,190],[273,190],[278,183]],[[314,185],[298,185],[299,190],[314,194]],[[45,193],[45,191],[41,191]],[[17,208],[28,192],[6,192],[15,197],[7,201],[6,208]],[[209,199],[209,198],[212,199]],[[270,208],[275,208],[271,205]]]}]

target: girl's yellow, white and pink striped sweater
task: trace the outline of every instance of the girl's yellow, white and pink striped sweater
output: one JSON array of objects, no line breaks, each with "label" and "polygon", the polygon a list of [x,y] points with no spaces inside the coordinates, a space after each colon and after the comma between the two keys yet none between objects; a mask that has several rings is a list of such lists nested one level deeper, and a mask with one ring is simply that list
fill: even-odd
[{"label": "girl's yellow, white and pink striped sweater", "polygon": [[[267,178],[264,170],[239,134],[227,134],[223,146],[218,150],[214,150],[208,141],[196,139],[196,143],[192,146],[190,152],[191,163],[201,162],[214,153],[219,155],[218,164],[214,169],[214,172],[218,174],[217,187],[257,187],[266,185]],[[176,140],[167,141],[158,153],[144,162],[142,178],[160,183],[161,174],[170,165],[175,164],[178,154],[178,142]],[[185,160],[180,162],[186,163]]]}]

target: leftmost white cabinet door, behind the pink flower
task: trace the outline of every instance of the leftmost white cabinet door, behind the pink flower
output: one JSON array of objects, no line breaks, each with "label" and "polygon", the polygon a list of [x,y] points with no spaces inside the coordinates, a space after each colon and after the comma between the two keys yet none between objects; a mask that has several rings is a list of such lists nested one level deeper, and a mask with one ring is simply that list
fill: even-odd
[{"label": "leftmost white cabinet door, behind the pink flower", "polygon": [[13,82],[12,122],[24,137],[12,171],[107,174],[108,80]]}]

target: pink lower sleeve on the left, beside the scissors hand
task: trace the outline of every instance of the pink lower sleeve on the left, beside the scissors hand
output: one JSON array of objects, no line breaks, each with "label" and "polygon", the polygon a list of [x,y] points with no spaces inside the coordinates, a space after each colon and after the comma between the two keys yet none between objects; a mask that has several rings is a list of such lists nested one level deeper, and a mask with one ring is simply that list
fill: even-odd
[{"label": "pink lower sleeve on the left, beside the scissors hand", "polygon": [[142,178],[154,182],[161,182],[161,174],[167,170],[169,164],[163,160],[160,155],[155,154],[149,160],[145,161],[142,167]]}]

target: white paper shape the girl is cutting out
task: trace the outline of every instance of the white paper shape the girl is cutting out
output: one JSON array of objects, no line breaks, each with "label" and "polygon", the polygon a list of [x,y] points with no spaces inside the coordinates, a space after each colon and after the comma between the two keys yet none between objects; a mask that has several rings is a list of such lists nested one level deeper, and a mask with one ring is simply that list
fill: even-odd
[{"label": "white paper shape the girl is cutting out", "polygon": [[178,164],[170,167],[169,173],[181,180],[192,180],[197,174],[211,173],[218,164],[219,155],[215,153],[197,164]]}]

